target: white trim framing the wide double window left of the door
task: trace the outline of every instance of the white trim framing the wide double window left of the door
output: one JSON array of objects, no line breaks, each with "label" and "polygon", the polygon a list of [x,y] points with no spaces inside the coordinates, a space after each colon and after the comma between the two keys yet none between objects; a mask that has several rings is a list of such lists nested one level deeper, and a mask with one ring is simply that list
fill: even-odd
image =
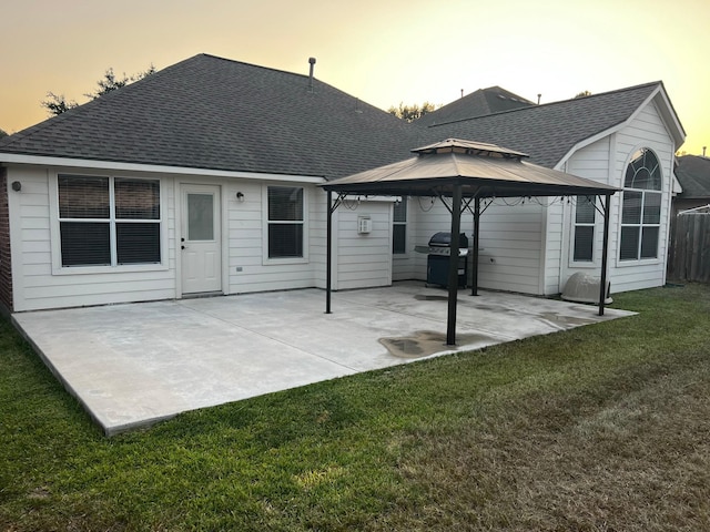
[{"label": "white trim framing the wide double window left of the door", "polygon": [[[59,225],[59,175],[77,175],[87,177],[108,177],[109,183],[113,183],[115,177],[128,177],[135,180],[148,180],[160,182],[160,263],[155,264],[126,264],[126,265],[108,265],[108,266],[63,266],[62,265],[62,250],[61,250],[61,229]],[[113,186],[109,188],[111,202],[113,202]],[[87,173],[87,172],[53,172],[49,180],[49,208],[50,208],[50,239],[51,239],[51,254],[52,254],[52,275],[88,275],[88,274],[114,274],[114,273],[132,273],[132,272],[161,272],[168,269],[168,223],[165,219],[166,213],[166,198],[168,193],[165,191],[164,180],[160,177],[136,177],[132,175],[116,175],[106,173]],[[109,218],[109,222],[110,223]],[[87,218],[89,222],[90,218]],[[101,219],[104,222],[104,219]],[[115,242],[114,224],[111,224],[111,242]],[[115,246],[111,246],[111,262],[115,263]]]}]

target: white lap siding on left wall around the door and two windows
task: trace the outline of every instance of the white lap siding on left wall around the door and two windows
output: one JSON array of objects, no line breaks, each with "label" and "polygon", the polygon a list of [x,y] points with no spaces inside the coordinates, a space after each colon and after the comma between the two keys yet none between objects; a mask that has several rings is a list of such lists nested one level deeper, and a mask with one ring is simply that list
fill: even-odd
[{"label": "white lap siding on left wall around the door and two windows", "polygon": [[[81,168],[68,170],[81,173]],[[220,177],[185,177],[146,174],[161,180],[164,211],[164,264],[102,267],[104,272],[73,272],[52,267],[50,178],[55,172],[31,166],[10,166],[8,183],[20,181],[22,191],[9,191],[12,243],[14,310],[37,310],[114,303],[172,299],[181,296],[176,242],[175,191],[182,183],[204,183],[222,187],[223,253],[225,294],[325,286],[325,193],[304,185],[307,197],[310,259],[297,264],[263,264],[263,182]],[[123,175],[120,172],[113,175]],[[132,176],[133,174],[131,174]],[[278,183],[276,183],[278,184]],[[236,193],[243,194],[239,201]],[[389,219],[387,219],[387,224]],[[387,239],[383,256],[389,260]],[[179,252],[179,244],[178,244]],[[80,268],[62,268],[79,270]],[[110,272],[106,272],[110,269]],[[379,274],[378,274],[379,275]],[[379,275],[382,277],[382,275]],[[365,279],[362,285],[367,285]]]}]

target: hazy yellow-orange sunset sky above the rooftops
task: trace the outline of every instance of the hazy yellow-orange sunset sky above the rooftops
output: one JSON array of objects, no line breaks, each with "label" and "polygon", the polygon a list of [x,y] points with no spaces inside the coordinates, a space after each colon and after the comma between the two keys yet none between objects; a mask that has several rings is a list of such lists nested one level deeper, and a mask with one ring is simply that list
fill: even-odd
[{"label": "hazy yellow-orange sunset sky above the rooftops", "polygon": [[[382,109],[500,85],[534,102],[662,81],[710,147],[709,0],[0,0],[0,129],[199,53],[308,73]],[[710,152],[708,152],[710,154]]]}]

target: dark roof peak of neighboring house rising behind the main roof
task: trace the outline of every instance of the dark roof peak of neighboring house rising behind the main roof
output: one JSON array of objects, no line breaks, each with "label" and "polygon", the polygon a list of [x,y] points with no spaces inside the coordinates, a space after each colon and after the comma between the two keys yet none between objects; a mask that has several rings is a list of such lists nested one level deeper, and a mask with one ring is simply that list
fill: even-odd
[{"label": "dark roof peak of neighboring house rising behind the main roof", "polygon": [[417,125],[443,124],[462,119],[474,119],[486,114],[513,111],[535,105],[529,100],[518,96],[499,86],[478,89],[435,111],[426,113],[417,120]]}]

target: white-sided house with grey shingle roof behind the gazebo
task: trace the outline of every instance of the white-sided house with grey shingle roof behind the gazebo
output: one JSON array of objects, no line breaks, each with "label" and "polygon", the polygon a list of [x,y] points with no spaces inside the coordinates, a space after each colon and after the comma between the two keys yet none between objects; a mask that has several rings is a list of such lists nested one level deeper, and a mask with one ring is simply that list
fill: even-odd
[{"label": "white-sided house with grey shingle roof behind the gazebo", "polygon": [[[307,75],[196,55],[0,140],[0,301],[24,311],[324,287],[317,185],[452,136],[623,188],[612,288],[662,285],[684,139],[663,85],[526,105],[407,124]],[[547,202],[485,211],[481,287],[549,295],[575,272],[598,274],[594,204]],[[415,246],[448,216],[428,198],[347,198],[333,215],[333,288],[426,279]]]}]

